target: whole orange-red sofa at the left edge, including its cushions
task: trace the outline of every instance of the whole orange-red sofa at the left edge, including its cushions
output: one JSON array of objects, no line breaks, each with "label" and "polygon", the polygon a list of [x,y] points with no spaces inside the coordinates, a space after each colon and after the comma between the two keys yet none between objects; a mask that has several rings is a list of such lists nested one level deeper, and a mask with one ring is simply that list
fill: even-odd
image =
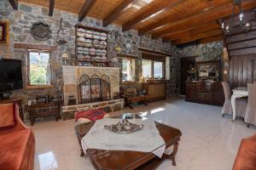
[{"label": "whole orange-red sofa at the left edge, including its cushions", "polygon": [[0,105],[0,169],[32,170],[34,154],[35,137],[21,122],[19,107]]}]

